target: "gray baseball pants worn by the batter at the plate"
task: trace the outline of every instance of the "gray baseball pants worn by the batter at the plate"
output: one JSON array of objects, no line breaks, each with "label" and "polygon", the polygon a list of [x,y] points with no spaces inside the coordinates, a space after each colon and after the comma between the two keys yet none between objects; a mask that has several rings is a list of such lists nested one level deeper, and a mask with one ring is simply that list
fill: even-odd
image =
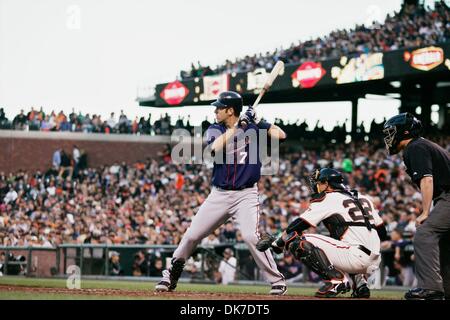
[{"label": "gray baseball pants worn by the batter at the plate", "polygon": [[259,201],[257,187],[243,190],[222,190],[213,188],[208,198],[200,206],[192,219],[180,245],[173,257],[187,260],[201,240],[224,224],[235,218],[242,238],[267,281],[273,285],[284,285],[285,279],[278,271],[270,250],[259,252],[256,242],[259,240]]}]

